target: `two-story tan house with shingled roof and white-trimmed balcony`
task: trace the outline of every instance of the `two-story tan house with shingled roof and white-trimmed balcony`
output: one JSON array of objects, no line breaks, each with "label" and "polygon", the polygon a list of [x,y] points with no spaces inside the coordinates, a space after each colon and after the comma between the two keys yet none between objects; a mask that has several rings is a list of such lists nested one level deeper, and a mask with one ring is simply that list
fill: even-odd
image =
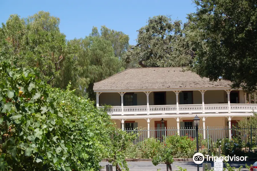
[{"label": "two-story tan house with shingled roof and white-trimmed balcony", "polygon": [[[231,128],[242,117],[253,115],[257,105],[248,104],[246,93],[231,89],[230,84],[222,79],[210,82],[181,67],[129,68],[94,83],[93,90],[98,107],[113,106],[108,114],[118,127],[175,127],[180,134],[183,127],[193,127],[196,114],[203,129]],[[205,138],[205,130],[203,134]]]}]

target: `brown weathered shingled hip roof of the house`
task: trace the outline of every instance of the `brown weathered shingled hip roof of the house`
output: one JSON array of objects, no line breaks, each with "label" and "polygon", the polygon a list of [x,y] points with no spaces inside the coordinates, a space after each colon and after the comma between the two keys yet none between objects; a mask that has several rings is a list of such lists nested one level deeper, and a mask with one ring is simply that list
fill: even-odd
[{"label": "brown weathered shingled hip roof of the house", "polygon": [[128,68],[102,81],[94,83],[93,90],[229,88],[231,82],[210,82],[182,67]]}]

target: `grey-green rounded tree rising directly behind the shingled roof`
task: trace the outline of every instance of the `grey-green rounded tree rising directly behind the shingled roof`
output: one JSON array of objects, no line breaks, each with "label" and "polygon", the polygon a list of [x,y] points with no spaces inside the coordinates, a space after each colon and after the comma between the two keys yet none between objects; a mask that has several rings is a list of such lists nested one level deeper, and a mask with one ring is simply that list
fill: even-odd
[{"label": "grey-green rounded tree rising directly behind the shingled roof", "polygon": [[123,56],[129,66],[174,67],[188,66],[192,62],[182,22],[173,22],[170,16],[149,18],[147,25],[138,30],[136,42]]}]

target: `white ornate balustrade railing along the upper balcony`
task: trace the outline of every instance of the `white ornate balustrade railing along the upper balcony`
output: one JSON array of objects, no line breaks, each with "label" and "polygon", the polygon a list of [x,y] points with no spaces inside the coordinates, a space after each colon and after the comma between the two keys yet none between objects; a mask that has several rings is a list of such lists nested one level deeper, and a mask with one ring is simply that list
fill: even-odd
[{"label": "white ornate balustrade railing along the upper balcony", "polygon": [[[104,108],[100,106],[99,108]],[[257,112],[257,104],[230,104],[230,112]],[[109,115],[121,115],[121,106],[107,109]],[[205,113],[228,112],[228,104],[204,104]],[[149,105],[149,114],[177,113],[176,105]],[[202,104],[178,105],[178,113],[202,113]],[[124,115],[147,114],[147,106],[123,106]]]}]

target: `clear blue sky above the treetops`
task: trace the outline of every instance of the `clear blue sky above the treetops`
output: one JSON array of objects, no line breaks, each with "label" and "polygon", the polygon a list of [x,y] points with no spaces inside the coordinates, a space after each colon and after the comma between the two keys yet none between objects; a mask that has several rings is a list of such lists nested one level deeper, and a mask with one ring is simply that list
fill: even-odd
[{"label": "clear blue sky above the treetops", "polygon": [[91,33],[92,27],[123,31],[129,35],[129,43],[136,44],[139,28],[146,25],[148,17],[155,15],[172,15],[172,19],[186,21],[186,14],[195,11],[192,0],[169,1],[7,1],[2,0],[0,22],[5,23],[11,14],[21,17],[33,15],[38,11],[49,11],[59,17],[59,25],[68,40],[84,38]]}]

